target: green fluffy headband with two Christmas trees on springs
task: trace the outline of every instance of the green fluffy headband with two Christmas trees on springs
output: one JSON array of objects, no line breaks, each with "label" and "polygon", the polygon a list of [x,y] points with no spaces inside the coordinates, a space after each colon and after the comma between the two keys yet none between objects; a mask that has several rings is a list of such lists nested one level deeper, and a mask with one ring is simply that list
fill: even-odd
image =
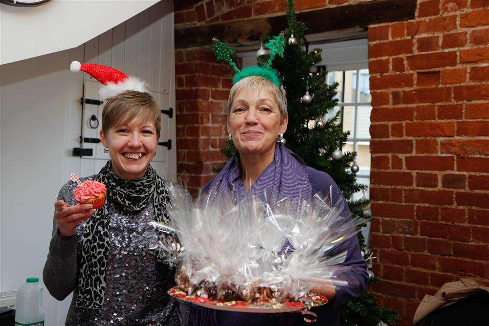
[{"label": "green fluffy headband with two Christmas trees on springs", "polygon": [[268,79],[270,82],[280,87],[280,79],[278,78],[277,72],[271,68],[271,65],[276,55],[279,55],[282,58],[284,57],[284,35],[285,33],[282,32],[278,36],[274,36],[273,39],[265,44],[265,46],[267,46],[267,48],[271,50],[270,58],[268,59],[267,65],[265,67],[259,67],[255,65],[244,68],[243,70],[240,70],[234,63],[233,59],[231,59],[230,57],[235,53],[235,51],[233,51],[229,46],[227,46],[225,43],[222,43],[216,38],[213,38],[212,42],[214,42],[214,52],[216,53],[217,61],[227,61],[233,67],[234,71],[236,71],[236,74],[233,77],[233,84],[238,83],[240,80],[246,77],[260,76]]}]

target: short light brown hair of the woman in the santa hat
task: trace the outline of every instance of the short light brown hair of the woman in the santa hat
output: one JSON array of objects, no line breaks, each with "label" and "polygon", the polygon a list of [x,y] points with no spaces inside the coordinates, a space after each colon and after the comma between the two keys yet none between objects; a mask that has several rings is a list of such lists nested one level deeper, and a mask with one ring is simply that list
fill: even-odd
[{"label": "short light brown hair of the woman in the santa hat", "polygon": [[112,127],[125,125],[134,119],[137,122],[153,121],[159,136],[161,112],[150,93],[126,90],[107,99],[102,111],[102,130],[107,134]]}]

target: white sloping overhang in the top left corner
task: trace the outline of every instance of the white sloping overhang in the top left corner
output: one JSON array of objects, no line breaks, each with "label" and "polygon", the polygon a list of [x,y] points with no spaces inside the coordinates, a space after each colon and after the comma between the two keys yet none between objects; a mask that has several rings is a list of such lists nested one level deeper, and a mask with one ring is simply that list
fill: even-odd
[{"label": "white sloping overhang in the top left corner", "polygon": [[32,8],[0,4],[0,64],[79,46],[157,1],[53,0]]}]

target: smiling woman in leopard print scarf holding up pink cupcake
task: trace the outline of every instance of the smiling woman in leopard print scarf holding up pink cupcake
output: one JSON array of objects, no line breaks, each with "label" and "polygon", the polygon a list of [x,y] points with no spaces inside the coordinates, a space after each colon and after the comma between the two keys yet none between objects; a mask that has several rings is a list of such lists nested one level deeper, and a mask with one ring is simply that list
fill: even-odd
[{"label": "smiling woman in leopard print scarf holding up pink cupcake", "polygon": [[94,179],[107,187],[104,207],[77,204],[67,182],[54,203],[44,283],[56,299],[73,298],[67,325],[180,325],[166,294],[174,271],[158,259],[147,222],[168,221],[165,181],[150,162],[160,134],[160,109],[142,91],[126,90],[103,109],[100,138],[111,160]]}]

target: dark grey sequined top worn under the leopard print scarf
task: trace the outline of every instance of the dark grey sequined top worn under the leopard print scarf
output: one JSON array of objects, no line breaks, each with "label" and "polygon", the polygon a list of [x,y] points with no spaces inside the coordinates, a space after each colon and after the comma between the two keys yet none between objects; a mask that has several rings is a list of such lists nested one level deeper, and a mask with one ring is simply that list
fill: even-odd
[{"label": "dark grey sequined top worn under the leopard print scarf", "polygon": [[[70,181],[58,200],[76,205],[75,184]],[[49,255],[44,265],[44,284],[58,300],[73,292],[66,325],[180,325],[185,324],[185,307],[180,307],[166,291],[174,285],[174,270],[156,258],[157,236],[147,224],[154,220],[153,202],[137,214],[114,202],[108,203],[110,252],[106,268],[104,307],[89,309],[75,306],[78,273],[85,222],[75,236],[63,241],[54,219]]]}]

